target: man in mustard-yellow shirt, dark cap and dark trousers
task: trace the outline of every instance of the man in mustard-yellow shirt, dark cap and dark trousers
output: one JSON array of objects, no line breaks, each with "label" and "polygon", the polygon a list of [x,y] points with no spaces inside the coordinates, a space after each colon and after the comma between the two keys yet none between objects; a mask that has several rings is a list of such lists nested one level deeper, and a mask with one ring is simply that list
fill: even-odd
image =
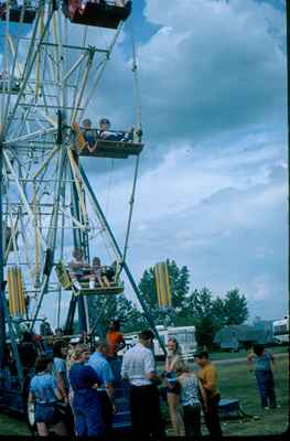
[{"label": "man in mustard-yellow shirt, dark cap and dark trousers", "polygon": [[218,402],[221,395],[217,389],[217,370],[208,359],[207,351],[200,351],[195,354],[195,363],[200,366],[197,376],[205,389],[207,397],[207,410],[204,415],[205,423],[211,437],[214,440],[222,438],[222,428],[218,416]]}]

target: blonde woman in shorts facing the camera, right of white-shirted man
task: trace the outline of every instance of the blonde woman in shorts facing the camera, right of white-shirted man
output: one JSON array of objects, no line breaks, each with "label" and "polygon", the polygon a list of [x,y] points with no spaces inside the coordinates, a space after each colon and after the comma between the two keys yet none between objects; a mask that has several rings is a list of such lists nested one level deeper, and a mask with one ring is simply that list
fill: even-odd
[{"label": "blonde woman in shorts facing the camera, right of white-shirted man", "polygon": [[184,424],[179,411],[180,385],[176,381],[176,364],[182,363],[182,353],[175,337],[168,340],[168,355],[165,359],[165,378],[168,383],[168,405],[170,419],[175,437],[183,435]]}]

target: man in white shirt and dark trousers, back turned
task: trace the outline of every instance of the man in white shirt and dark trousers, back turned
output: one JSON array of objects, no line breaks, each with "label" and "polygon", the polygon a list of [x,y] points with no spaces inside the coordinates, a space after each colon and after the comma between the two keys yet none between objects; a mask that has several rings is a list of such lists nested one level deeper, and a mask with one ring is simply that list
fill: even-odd
[{"label": "man in white shirt and dark trousers, back turned", "polygon": [[160,410],[155,361],[151,351],[154,334],[150,330],[139,334],[139,343],[123,355],[121,376],[130,383],[130,411],[133,439],[165,438]]}]

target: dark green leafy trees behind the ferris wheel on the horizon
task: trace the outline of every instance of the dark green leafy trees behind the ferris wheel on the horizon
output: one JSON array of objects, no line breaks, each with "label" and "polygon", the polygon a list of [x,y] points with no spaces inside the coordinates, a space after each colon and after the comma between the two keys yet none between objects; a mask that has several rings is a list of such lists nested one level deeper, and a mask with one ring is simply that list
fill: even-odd
[{"label": "dark green leafy trees behind the ferris wheel on the horizon", "polygon": [[[200,346],[211,347],[217,331],[227,325],[238,325],[248,318],[247,300],[237,288],[225,295],[213,295],[207,288],[190,291],[190,271],[186,266],[179,267],[175,260],[167,260],[172,292],[172,306],[160,308],[158,304],[154,268],[144,270],[139,282],[139,290],[150,309],[155,325],[187,326],[194,325]],[[100,305],[96,305],[96,311]],[[99,318],[104,325],[111,318],[120,318],[125,333],[138,332],[147,326],[144,314],[119,294],[104,308]]]}]

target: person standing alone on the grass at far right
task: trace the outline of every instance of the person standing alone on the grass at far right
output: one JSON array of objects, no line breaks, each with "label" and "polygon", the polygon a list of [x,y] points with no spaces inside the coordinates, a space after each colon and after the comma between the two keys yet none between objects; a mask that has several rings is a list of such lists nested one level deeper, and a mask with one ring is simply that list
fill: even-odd
[{"label": "person standing alone on the grass at far right", "polygon": [[272,369],[275,368],[273,355],[265,351],[261,344],[255,344],[253,352],[248,354],[247,364],[250,372],[253,370],[253,365],[255,365],[255,376],[260,392],[261,407],[266,410],[269,407],[275,409],[277,402],[272,374]]}]

